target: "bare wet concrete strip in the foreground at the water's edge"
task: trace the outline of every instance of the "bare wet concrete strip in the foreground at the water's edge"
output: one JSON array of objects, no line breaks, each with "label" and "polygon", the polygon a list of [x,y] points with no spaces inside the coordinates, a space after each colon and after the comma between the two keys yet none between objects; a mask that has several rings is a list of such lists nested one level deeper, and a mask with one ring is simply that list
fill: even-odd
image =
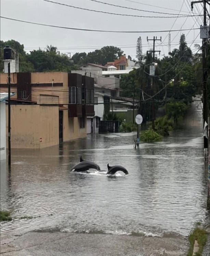
[{"label": "bare wet concrete strip in the foreground at the water's edge", "polygon": [[5,256],[185,256],[186,237],[145,237],[65,232],[1,233]]}]

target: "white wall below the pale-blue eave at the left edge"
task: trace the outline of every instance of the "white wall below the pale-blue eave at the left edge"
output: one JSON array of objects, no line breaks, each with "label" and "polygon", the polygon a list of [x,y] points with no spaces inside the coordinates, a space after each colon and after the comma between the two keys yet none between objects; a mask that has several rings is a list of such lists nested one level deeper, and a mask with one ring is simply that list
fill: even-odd
[{"label": "white wall below the pale-blue eave at the left edge", "polygon": [[0,159],[6,159],[6,104],[0,102]]}]

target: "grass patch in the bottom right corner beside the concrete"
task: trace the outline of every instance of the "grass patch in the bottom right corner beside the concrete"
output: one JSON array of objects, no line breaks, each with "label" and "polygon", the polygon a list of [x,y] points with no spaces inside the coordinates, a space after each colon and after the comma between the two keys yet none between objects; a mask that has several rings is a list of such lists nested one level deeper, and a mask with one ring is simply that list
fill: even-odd
[{"label": "grass patch in the bottom right corner beside the concrete", "polygon": [[187,253],[187,256],[192,256],[193,255],[193,247],[194,247],[195,240],[198,241],[198,245],[199,245],[199,252],[196,253],[196,256],[201,256],[202,251],[203,251],[204,246],[205,246],[206,241],[207,241],[207,232],[203,229],[200,229],[200,228],[196,227],[193,230],[193,232],[189,235],[188,240],[190,242],[190,247],[189,247],[189,251]]}]

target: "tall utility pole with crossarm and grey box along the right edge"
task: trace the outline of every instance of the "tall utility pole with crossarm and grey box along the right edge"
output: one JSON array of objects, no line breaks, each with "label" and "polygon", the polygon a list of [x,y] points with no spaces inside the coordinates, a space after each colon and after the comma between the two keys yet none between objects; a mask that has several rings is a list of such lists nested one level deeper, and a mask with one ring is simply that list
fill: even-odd
[{"label": "tall utility pole with crossarm and grey box along the right edge", "polygon": [[[208,123],[208,102],[207,102],[207,76],[208,76],[208,67],[207,67],[207,53],[208,53],[208,39],[209,39],[209,28],[207,27],[206,22],[206,4],[209,4],[210,0],[202,1],[192,1],[191,9],[193,10],[193,4],[203,3],[204,4],[204,26],[200,28],[200,38],[202,38],[202,64],[203,64],[203,122]],[[206,33],[205,33],[206,30]],[[209,124],[208,124],[209,125]],[[208,148],[208,138],[204,137],[204,148]]]}]

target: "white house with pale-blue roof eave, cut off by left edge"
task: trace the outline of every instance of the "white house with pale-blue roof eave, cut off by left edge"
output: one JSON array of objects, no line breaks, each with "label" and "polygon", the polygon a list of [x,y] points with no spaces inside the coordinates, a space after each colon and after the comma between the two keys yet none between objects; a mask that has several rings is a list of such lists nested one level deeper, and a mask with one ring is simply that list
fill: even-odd
[{"label": "white house with pale-blue roof eave, cut off by left edge", "polygon": [[[14,93],[10,94],[15,95]],[[8,93],[0,93],[0,159],[6,159],[6,99]]]}]

